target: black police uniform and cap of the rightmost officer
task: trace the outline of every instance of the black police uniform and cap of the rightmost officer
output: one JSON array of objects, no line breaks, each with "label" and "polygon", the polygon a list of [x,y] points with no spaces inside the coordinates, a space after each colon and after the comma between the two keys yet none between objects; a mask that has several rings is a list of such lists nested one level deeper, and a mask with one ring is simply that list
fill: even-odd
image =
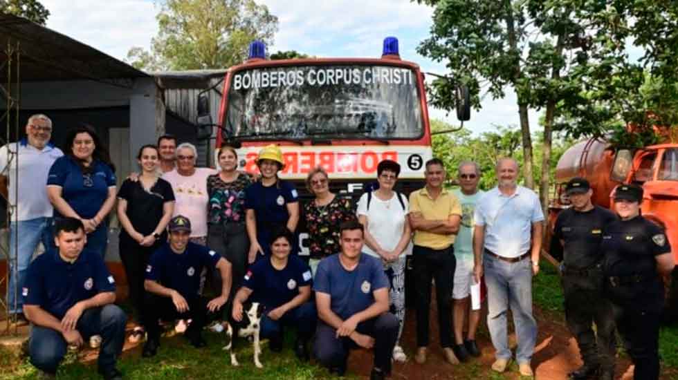
[{"label": "black police uniform and cap of the rightmost officer", "polygon": [[[642,189],[624,185],[616,191],[642,199]],[[659,323],[664,302],[656,256],[670,253],[661,227],[636,216],[617,220],[603,231],[605,292],[612,301],[617,329],[635,364],[634,379],[659,379]]]}]

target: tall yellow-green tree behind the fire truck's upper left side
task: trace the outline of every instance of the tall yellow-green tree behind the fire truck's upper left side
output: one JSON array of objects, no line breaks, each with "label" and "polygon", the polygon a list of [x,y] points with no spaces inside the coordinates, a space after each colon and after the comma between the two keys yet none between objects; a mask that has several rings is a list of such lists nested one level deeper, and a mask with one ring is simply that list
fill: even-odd
[{"label": "tall yellow-green tree behind the fire truck's upper left side", "polygon": [[227,68],[244,61],[255,39],[273,43],[277,17],[254,0],[165,0],[151,52],[131,48],[132,66],[146,70]]}]

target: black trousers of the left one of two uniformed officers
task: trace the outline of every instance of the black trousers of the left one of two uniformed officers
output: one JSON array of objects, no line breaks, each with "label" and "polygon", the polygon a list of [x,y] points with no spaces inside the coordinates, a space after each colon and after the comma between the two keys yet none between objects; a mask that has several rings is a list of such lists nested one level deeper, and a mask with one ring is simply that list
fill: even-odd
[{"label": "black trousers of the left one of two uniformed officers", "polygon": [[[579,345],[582,360],[614,371],[616,338],[612,303],[603,296],[603,271],[567,272],[561,277],[567,327]],[[596,332],[592,324],[596,323]]]}]

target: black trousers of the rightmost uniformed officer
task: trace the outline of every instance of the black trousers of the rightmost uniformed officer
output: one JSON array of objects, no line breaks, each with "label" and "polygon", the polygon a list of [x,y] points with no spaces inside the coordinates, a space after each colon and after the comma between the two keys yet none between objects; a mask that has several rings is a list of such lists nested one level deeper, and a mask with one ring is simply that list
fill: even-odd
[{"label": "black trousers of the rightmost uniformed officer", "polygon": [[614,320],[627,354],[636,366],[636,380],[659,379],[659,323],[661,312],[642,310],[639,305],[623,307],[612,304]]}]

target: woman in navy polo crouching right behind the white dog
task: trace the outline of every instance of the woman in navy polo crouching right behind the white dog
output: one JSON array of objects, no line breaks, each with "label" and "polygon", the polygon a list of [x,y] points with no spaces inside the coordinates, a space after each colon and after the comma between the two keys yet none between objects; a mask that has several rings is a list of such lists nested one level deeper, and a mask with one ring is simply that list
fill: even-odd
[{"label": "woman in navy polo crouching right behind the white dog", "polygon": [[243,303],[251,298],[264,305],[262,338],[270,339],[274,352],[282,350],[283,327],[297,330],[295,354],[309,360],[306,343],[315,330],[315,305],[311,299],[311,269],[299,258],[290,256],[292,233],[283,226],[271,232],[271,256],[253,264],[243,286],[233,300],[232,317],[241,321]]}]

